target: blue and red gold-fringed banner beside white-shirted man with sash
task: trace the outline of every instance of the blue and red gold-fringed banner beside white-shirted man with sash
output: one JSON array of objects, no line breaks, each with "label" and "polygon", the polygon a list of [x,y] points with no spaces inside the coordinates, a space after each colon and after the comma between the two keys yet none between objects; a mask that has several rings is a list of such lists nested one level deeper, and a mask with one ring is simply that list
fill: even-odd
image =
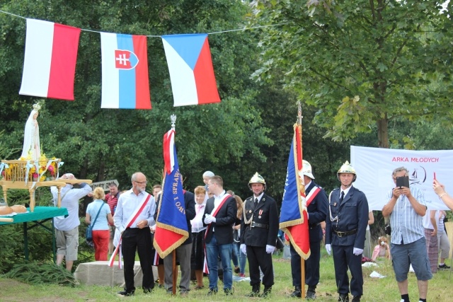
[{"label": "blue and red gold-fringed banner beside white-shirted man with sash", "polygon": [[162,258],[178,248],[189,237],[174,129],[164,135],[164,165],[164,185],[154,233],[154,248]]}]

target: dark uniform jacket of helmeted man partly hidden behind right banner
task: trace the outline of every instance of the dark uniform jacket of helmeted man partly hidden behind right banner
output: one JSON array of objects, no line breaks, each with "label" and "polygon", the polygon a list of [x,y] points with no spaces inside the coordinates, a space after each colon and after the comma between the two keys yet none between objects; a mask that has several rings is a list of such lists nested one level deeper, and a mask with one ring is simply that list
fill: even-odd
[{"label": "dark uniform jacket of helmeted man partly hidden behind right banner", "polygon": [[[311,190],[314,190],[319,185],[311,180],[309,187],[306,188],[305,194],[308,195]],[[310,242],[316,243],[323,239],[323,230],[321,228],[322,221],[328,216],[328,200],[326,191],[321,188],[321,191],[316,194],[316,197],[311,201],[306,211],[309,213],[309,238]]]}]

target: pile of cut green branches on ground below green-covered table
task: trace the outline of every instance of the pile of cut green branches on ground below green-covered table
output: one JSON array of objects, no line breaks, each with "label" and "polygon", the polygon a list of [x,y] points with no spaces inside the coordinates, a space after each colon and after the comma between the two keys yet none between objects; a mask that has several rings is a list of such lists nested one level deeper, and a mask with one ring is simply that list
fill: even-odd
[{"label": "pile of cut green branches on ground below green-covered table", "polygon": [[74,286],[77,284],[71,272],[54,263],[30,262],[14,265],[4,274],[4,278],[17,279],[27,284],[59,284]]}]

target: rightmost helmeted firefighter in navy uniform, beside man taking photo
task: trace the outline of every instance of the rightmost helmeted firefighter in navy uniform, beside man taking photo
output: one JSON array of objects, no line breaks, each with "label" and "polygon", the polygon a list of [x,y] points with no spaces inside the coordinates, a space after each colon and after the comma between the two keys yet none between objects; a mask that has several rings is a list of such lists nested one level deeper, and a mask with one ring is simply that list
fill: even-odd
[{"label": "rightmost helmeted firefighter in navy uniform, beside man taking photo", "polygon": [[[326,250],[333,253],[338,301],[360,301],[363,294],[362,252],[368,225],[368,201],[363,192],[352,187],[357,175],[346,161],[337,172],[341,187],[329,195],[329,214],[326,219]],[[351,272],[350,290],[348,268]]]}]

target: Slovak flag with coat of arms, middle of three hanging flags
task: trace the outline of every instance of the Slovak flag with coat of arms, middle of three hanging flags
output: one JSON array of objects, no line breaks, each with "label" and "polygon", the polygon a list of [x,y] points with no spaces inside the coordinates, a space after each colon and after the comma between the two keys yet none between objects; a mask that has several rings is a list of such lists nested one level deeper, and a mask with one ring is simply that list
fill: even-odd
[{"label": "Slovak flag with coat of arms, middle of three hanging flags", "polygon": [[151,109],[147,37],[101,33],[101,108]]}]

